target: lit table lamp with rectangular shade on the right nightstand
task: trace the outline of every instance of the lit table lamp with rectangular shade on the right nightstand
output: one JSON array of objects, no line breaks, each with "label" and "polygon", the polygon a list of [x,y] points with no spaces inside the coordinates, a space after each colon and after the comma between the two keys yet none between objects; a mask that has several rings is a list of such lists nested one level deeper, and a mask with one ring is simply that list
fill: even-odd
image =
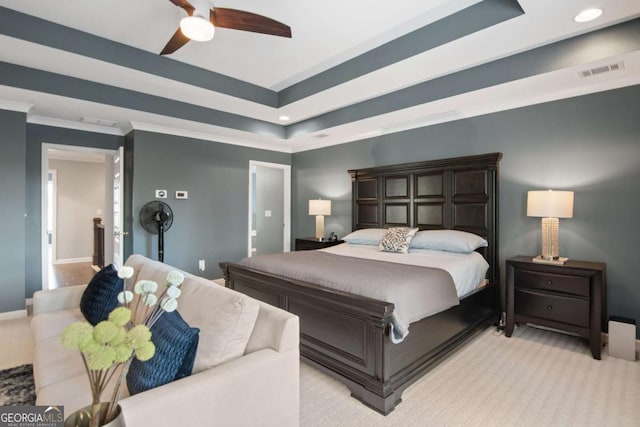
[{"label": "lit table lamp with rectangular shade on the right nightstand", "polygon": [[529,191],[527,216],[542,218],[542,255],[534,262],[564,264],[569,258],[559,256],[559,218],[573,218],[573,191]]}]

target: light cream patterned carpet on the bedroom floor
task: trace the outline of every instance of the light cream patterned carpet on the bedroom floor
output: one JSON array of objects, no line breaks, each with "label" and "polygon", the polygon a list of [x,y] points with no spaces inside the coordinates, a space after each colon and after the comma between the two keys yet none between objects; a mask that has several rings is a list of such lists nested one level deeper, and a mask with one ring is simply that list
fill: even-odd
[{"label": "light cream patterned carpet on the bedroom floor", "polygon": [[[0,321],[0,369],[32,363],[29,318]],[[505,338],[495,329],[410,386],[384,417],[302,363],[302,427],[639,426],[640,363],[585,341],[531,327]]]}]

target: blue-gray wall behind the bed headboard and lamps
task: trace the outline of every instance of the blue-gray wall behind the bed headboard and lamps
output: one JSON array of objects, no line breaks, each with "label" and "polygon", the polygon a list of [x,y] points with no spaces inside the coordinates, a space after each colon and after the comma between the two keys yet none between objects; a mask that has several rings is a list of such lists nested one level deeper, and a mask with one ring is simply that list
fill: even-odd
[{"label": "blue-gray wall behind the bed headboard and lamps", "polygon": [[294,154],[293,234],[313,230],[306,210],[317,197],[332,200],[327,233],[351,230],[348,169],[496,151],[504,153],[502,280],[506,258],[540,252],[540,219],[526,216],[527,191],[573,190],[574,217],[560,220],[560,253],[605,262],[609,313],[640,320],[640,86]]}]

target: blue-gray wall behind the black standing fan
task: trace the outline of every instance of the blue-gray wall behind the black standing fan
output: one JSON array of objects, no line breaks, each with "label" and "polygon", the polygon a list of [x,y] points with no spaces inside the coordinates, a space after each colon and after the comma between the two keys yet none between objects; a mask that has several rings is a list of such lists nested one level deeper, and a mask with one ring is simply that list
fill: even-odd
[{"label": "blue-gray wall behind the black standing fan", "polygon": [[[133,253],[157,257],[157,235],[140,225],[138,212],[155,200],[155,189],[174,214],[165,234],[164,261],[208,278],[222,276],[221,261],[247,255],[249,232],[249,161],[290,164],[291,155],[217,142],[133,131],[127,136],[133,157]],[[131,160],[131,159],[129,159]],[[176,200],[176,190],[189,192]],[[198,260],[206,271],[198,272]]]}]

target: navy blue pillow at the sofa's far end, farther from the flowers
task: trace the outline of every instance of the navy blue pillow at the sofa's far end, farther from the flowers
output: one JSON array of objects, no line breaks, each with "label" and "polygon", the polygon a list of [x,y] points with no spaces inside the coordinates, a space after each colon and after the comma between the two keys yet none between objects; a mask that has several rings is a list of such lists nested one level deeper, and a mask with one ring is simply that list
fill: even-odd
[{"label": "navy blue pillow at the sofa's far end, farther from the flowers", "polygon": [[113,264],[98,271],[80,299],[80,311],[87,322],[95,326],[107,320],[109,313],[118,305],[118,293],[121,291],[122,279]]}]

